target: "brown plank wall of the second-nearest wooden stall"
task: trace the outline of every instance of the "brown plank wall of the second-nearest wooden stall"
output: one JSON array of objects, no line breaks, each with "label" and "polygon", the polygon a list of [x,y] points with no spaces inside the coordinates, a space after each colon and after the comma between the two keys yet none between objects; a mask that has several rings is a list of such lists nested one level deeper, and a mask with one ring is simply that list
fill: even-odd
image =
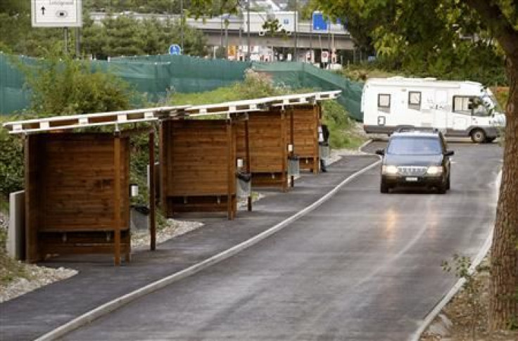
[{"label": "brown plank wall of the second-nearest wooden stall", "polygon": [[236,138],[230,120],[168,120],[160,131],[162,205],[176,212],[227,212],[236,201]]}]

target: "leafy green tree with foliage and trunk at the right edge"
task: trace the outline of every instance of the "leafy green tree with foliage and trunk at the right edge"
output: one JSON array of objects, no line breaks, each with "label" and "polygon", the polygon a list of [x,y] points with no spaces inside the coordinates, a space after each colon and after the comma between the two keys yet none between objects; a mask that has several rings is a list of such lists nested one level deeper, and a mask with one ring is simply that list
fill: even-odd
[{"label": "leafy green tree with foliage and trunk at the right edge", "polygon": [[[455,67],[484,67],[505,54],[510,83],[502,184],[493,235],[491,328],[518,320],[518,1],[323,0],[324,11],[372,22],[381,56],[441,75]],[[350,20],[351,21],[351,20]],[[470,37],[469,40],[466,37]],[[503,63],[501,58],[493,58]],[[513,322],[514,321],[514,322]]]}]

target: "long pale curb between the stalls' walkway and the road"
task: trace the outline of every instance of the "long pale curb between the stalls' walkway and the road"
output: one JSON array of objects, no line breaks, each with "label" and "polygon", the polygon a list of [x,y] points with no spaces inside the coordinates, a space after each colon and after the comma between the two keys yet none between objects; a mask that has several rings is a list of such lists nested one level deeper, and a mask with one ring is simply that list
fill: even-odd
[{"label": "long pale curb between the stalls' walkway and the road", "polygon": [[258,243],[261,240],[271,236],[273,233],[276,233],[277,231],[283,229],[287,225],[291,224],[293,221],[296,221],[297,219],[303,217],[305,214],[308,214],[312,210],[315,210],[315,208],[319,207],[320,205],[322,205],[322,203],[329,200],[329,198],[331,198],[331,196],[333,196],[334,193],[339,191],[339,189],[341,187],[343,187],[345,184],[348,184],[350,181],[353,181],[353,179],[355,179],[360,174],[367,172],[369,169],[377,167],[377,165],[379,165],[380,162],[381,161],[378,160],[377,162],[374,162],[373,164],[371,164],[363,169],[360,169],[360,171],[355,172],[354,174],[348,176],[347,179],[343,180],[340,184],[338,184],[335,188],[333,188],[331,191],[329,191],[329,193],[322,196],[322,198],[320,198],[319,200],[313,202],[308,207],[305,207],[305,209],[301,210],[300,212],[297,212],[296,214],[293,214],[291,217],[281,221],[279,224],[271,227],[270,229],[267,229],[266,231],[258,234],[257,236],[250,238],[248,240],[245,240],[243,243],[238,244],[234,247],[231,247],[228,250],[220,252],[219,254],[217,254],[213,257],[210,257],[210,258],[204,260],[203,262],[194,264],[193,266],[189,266],[189,268],[187,268],[187,269],[176,272],[175,274],[172,274],[170,276],[164,277],[164,278],[162,278],[156,282],[153,282],[149,285],[146,285],[140,289],[134,290],[133,292],[130,292],[126,295],[118,297],[115,300],[107,302],[107,303],[97,307],[96,309],[88,311],[87,313],[82,314],[81,316],[78,316],[77,318],[73,319],[72,321],[65,323],[63,326],[59,326],[58,328],[51,330],[49,333],[46,333],[45,335],[38,337],[36,339],[36,341],[56,340],[59,337],[63,337],[64,335],[70,333],[72,330],[75,330],[77,328],[80,328],[81,326],[91,323],[95,319],[99,319],[99,317],[106,315],[116,309],[119,309],[120,307],[124,306],[125,304],[128,304],[134,300],[137,300],[139,297],[149,295],[151,292],[160,290],[161,288],[164,288],[165,286],[170,285],[171,283],[174,283],[175,281],[179,281],[182,278],[191,276],[192,274],[196,274],[196,272],[206,269],[208,266],[221,262],[222,260],[227,259],[227,258],[235,255],[236,253],[238,253],[242,250],[245,250],[248,247],[251,247],[255,243]]}]

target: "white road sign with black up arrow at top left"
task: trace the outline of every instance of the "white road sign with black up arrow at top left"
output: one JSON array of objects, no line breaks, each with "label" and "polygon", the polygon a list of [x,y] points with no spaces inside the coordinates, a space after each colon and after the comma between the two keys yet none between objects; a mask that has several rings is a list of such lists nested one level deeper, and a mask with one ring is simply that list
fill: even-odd
[{"label": "white road sign with black up arrow at top left", "polygon": [[81,0],[32,0],[33,27],[81,27]]}]

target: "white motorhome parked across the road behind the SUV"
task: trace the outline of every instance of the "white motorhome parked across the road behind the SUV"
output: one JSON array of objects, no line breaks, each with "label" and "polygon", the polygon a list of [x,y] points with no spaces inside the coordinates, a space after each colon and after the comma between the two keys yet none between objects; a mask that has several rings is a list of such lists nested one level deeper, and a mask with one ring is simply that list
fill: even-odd
[{"label": "white motorhome parked across the road behind the SUV", "polygon": [[491,142],[505,126],[505,115],[490,89],[476,82],[435,78],[372,78],[365,83],[361,110],[367,133],[391,134],[401,128],[439,129],[446,136]]}]

